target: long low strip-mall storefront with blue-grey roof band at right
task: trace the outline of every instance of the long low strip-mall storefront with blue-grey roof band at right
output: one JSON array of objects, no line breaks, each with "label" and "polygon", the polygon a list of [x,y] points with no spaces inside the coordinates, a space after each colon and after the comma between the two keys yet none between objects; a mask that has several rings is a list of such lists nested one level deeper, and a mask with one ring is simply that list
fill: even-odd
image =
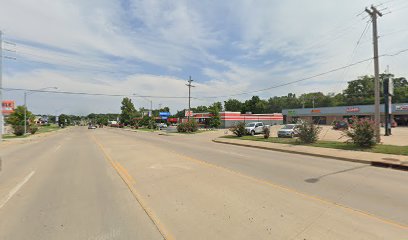
[{"label": "long low strip-mall storefront with blue-grey roof band at right", "polygon": [[[380,112],[383,123],[385,119],[384,104],[380,105]],[[336,120],[342,121],[352,117],[374,119],[374,105],[283,109],[282,114],[285,123],[304,120],[326,125]],[[408,103],[392,104],[391,114],[398,126],[408,126]]]}]

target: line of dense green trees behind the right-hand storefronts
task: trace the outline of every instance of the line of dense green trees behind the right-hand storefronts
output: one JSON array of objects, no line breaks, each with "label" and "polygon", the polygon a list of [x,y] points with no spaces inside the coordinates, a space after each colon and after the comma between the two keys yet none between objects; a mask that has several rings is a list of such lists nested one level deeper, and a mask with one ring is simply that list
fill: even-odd
[{"label": "line of dense green trees behind the right-hand storefronts", "polygon": [[[404,77],[394,78],[393,74],[380,74],[380,81],[384,79],[393,79],[394,96],[393,103],[408,102],[408,81]],[[381,86],[381,103],[384,103]],[[374,104],[374,77],[361,76],[356,80],[349,81],[346,89],[341,93],[311,92],[297,96],[294,93],[288,93],[285,96],[274,96],[269,99],[261,99],[259,96],[240,101],[238,99],[228,99],[224,101],[222,108],[221,102],[214,103],[219,109],[232,112],[251,112],[260,113],[280,113],[282,109],[293,108],[312,108],[312,107],[336,107],[349,105],[369,105]],[[198,106],[192,108],[193,112],[208,112],[209,107]],[[184,110],[175,114],[177,117],[184,117]]]}]

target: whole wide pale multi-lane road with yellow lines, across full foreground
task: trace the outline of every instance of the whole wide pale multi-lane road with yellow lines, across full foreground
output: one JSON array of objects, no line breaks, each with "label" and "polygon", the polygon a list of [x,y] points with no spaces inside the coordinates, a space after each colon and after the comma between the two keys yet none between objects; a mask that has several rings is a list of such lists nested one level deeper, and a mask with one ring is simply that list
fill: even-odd
[{"label": "whole wide pale multi-lane road with yellow lines, across full foreground", "polygon": [[0,146],[0,239],[407,239],[408,174],[72,128]]}]

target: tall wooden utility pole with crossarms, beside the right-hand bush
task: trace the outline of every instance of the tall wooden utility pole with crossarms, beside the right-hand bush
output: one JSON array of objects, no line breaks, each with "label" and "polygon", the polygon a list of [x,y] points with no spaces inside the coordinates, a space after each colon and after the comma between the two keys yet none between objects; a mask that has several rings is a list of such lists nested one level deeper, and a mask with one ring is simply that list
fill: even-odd
[{"label": "tall wooden utility pole with crossarms, beside the right-hand bush", "polygon": [[374,121],[375,121],[375,137],[376,142],[381,142],[380,136],[380,77],[379,77],[379,64],[378,64],[378,33],[377,33],[377,16],[382,17],[382,13],[377,10],[373,5],[371,10],[366,8],[365,11],[370,15],[373,23],[373,47],[374,47]]}]

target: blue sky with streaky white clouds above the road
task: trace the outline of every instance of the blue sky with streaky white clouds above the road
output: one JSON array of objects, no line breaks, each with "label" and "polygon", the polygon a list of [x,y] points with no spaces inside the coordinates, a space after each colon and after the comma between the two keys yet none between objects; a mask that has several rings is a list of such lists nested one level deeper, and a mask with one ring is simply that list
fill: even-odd
[{"label": "blue sky with streaky white clouds above the road", "polygon": [[[3,87],[119,95],[27,96],[34,113],[81,115],[120,112],[122,96],[175,113],[188,108],[190,76],[193,107],[338,93],[373,61],[313,76],[372,58],[372,4],[384,14],[380,55],[408,49],[405,0],[0,0],[3,55],[15,58],[3,58]],[[408,52],[383,56],[380,72],[408,77],[407,63]],[[3,91],[17,105],[23,96]]]}]

